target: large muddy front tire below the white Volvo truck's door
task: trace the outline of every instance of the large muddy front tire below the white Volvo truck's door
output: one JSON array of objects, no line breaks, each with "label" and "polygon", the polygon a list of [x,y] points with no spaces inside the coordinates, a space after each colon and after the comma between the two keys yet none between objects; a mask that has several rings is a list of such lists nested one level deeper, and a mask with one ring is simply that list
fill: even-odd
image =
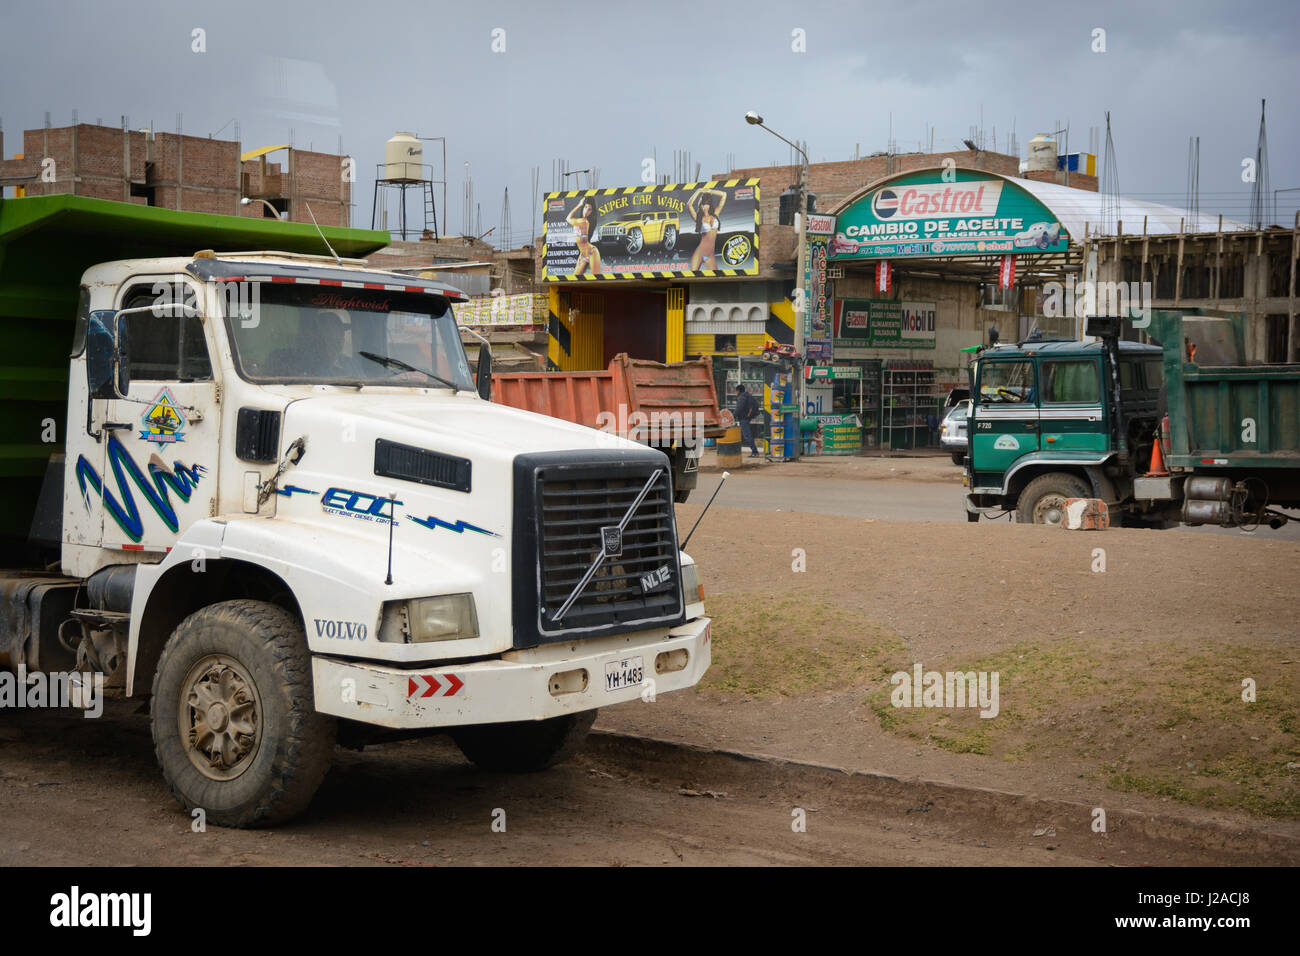
[{"label": "large muddy front tire below the white Volvo truck's door", "polygon": [[172,793],[217,826],[300,813],[334,756],[337,722],[316,713],[302,624],[263,601],[225,601],[181,622],[153,675],[151,722]]}]

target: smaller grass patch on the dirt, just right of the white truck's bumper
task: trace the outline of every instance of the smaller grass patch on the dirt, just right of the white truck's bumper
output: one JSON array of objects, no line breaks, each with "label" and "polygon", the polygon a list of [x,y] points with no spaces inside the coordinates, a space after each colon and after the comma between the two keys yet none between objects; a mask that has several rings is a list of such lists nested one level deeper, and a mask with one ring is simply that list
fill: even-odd
[{"label": "smaller grass patch on the dirt, just right of the white truck's bumper", "polygon": [[798,697],[874,687],[907,659],[893,631],[829,602],[767,594],[710,596],[712,666],[701,687],[748,697]]}]

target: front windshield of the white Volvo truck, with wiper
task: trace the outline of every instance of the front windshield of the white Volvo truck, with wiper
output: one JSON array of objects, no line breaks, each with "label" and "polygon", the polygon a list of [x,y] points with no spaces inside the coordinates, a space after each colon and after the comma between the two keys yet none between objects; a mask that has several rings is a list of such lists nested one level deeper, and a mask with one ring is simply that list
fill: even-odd
[{"label": "front windshield of the white Volvo truck, with wiper", "polygon": [[441,297],[265,282],[250,291],[226,316],[248,381],[473,389]]}]

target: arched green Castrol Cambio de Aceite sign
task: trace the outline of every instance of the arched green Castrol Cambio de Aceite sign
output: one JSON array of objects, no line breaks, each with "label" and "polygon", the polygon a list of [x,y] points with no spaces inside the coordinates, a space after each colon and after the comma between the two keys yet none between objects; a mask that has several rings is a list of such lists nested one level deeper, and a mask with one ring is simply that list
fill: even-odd
[{"label": "arched green Castrol Cambio de Aceite sign", "polygon": [[1063,252],[1069,233],[1027,190],[978,169],[907,173],[836,217],[831,259]]}]

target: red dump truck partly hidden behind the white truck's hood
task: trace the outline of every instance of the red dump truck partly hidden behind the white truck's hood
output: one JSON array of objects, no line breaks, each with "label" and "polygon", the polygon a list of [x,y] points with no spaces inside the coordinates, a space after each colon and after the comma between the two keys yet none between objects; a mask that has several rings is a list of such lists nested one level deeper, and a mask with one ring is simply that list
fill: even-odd
[{"label": "red dump truck partly hidden behind the white truck's hood", "polygon": [[659,449],[677,501],[696,486],[703,438],[720,428],[708,356],[664,364],[619,352],[599,372],[499,372],[491,382],[494,402]]}]

